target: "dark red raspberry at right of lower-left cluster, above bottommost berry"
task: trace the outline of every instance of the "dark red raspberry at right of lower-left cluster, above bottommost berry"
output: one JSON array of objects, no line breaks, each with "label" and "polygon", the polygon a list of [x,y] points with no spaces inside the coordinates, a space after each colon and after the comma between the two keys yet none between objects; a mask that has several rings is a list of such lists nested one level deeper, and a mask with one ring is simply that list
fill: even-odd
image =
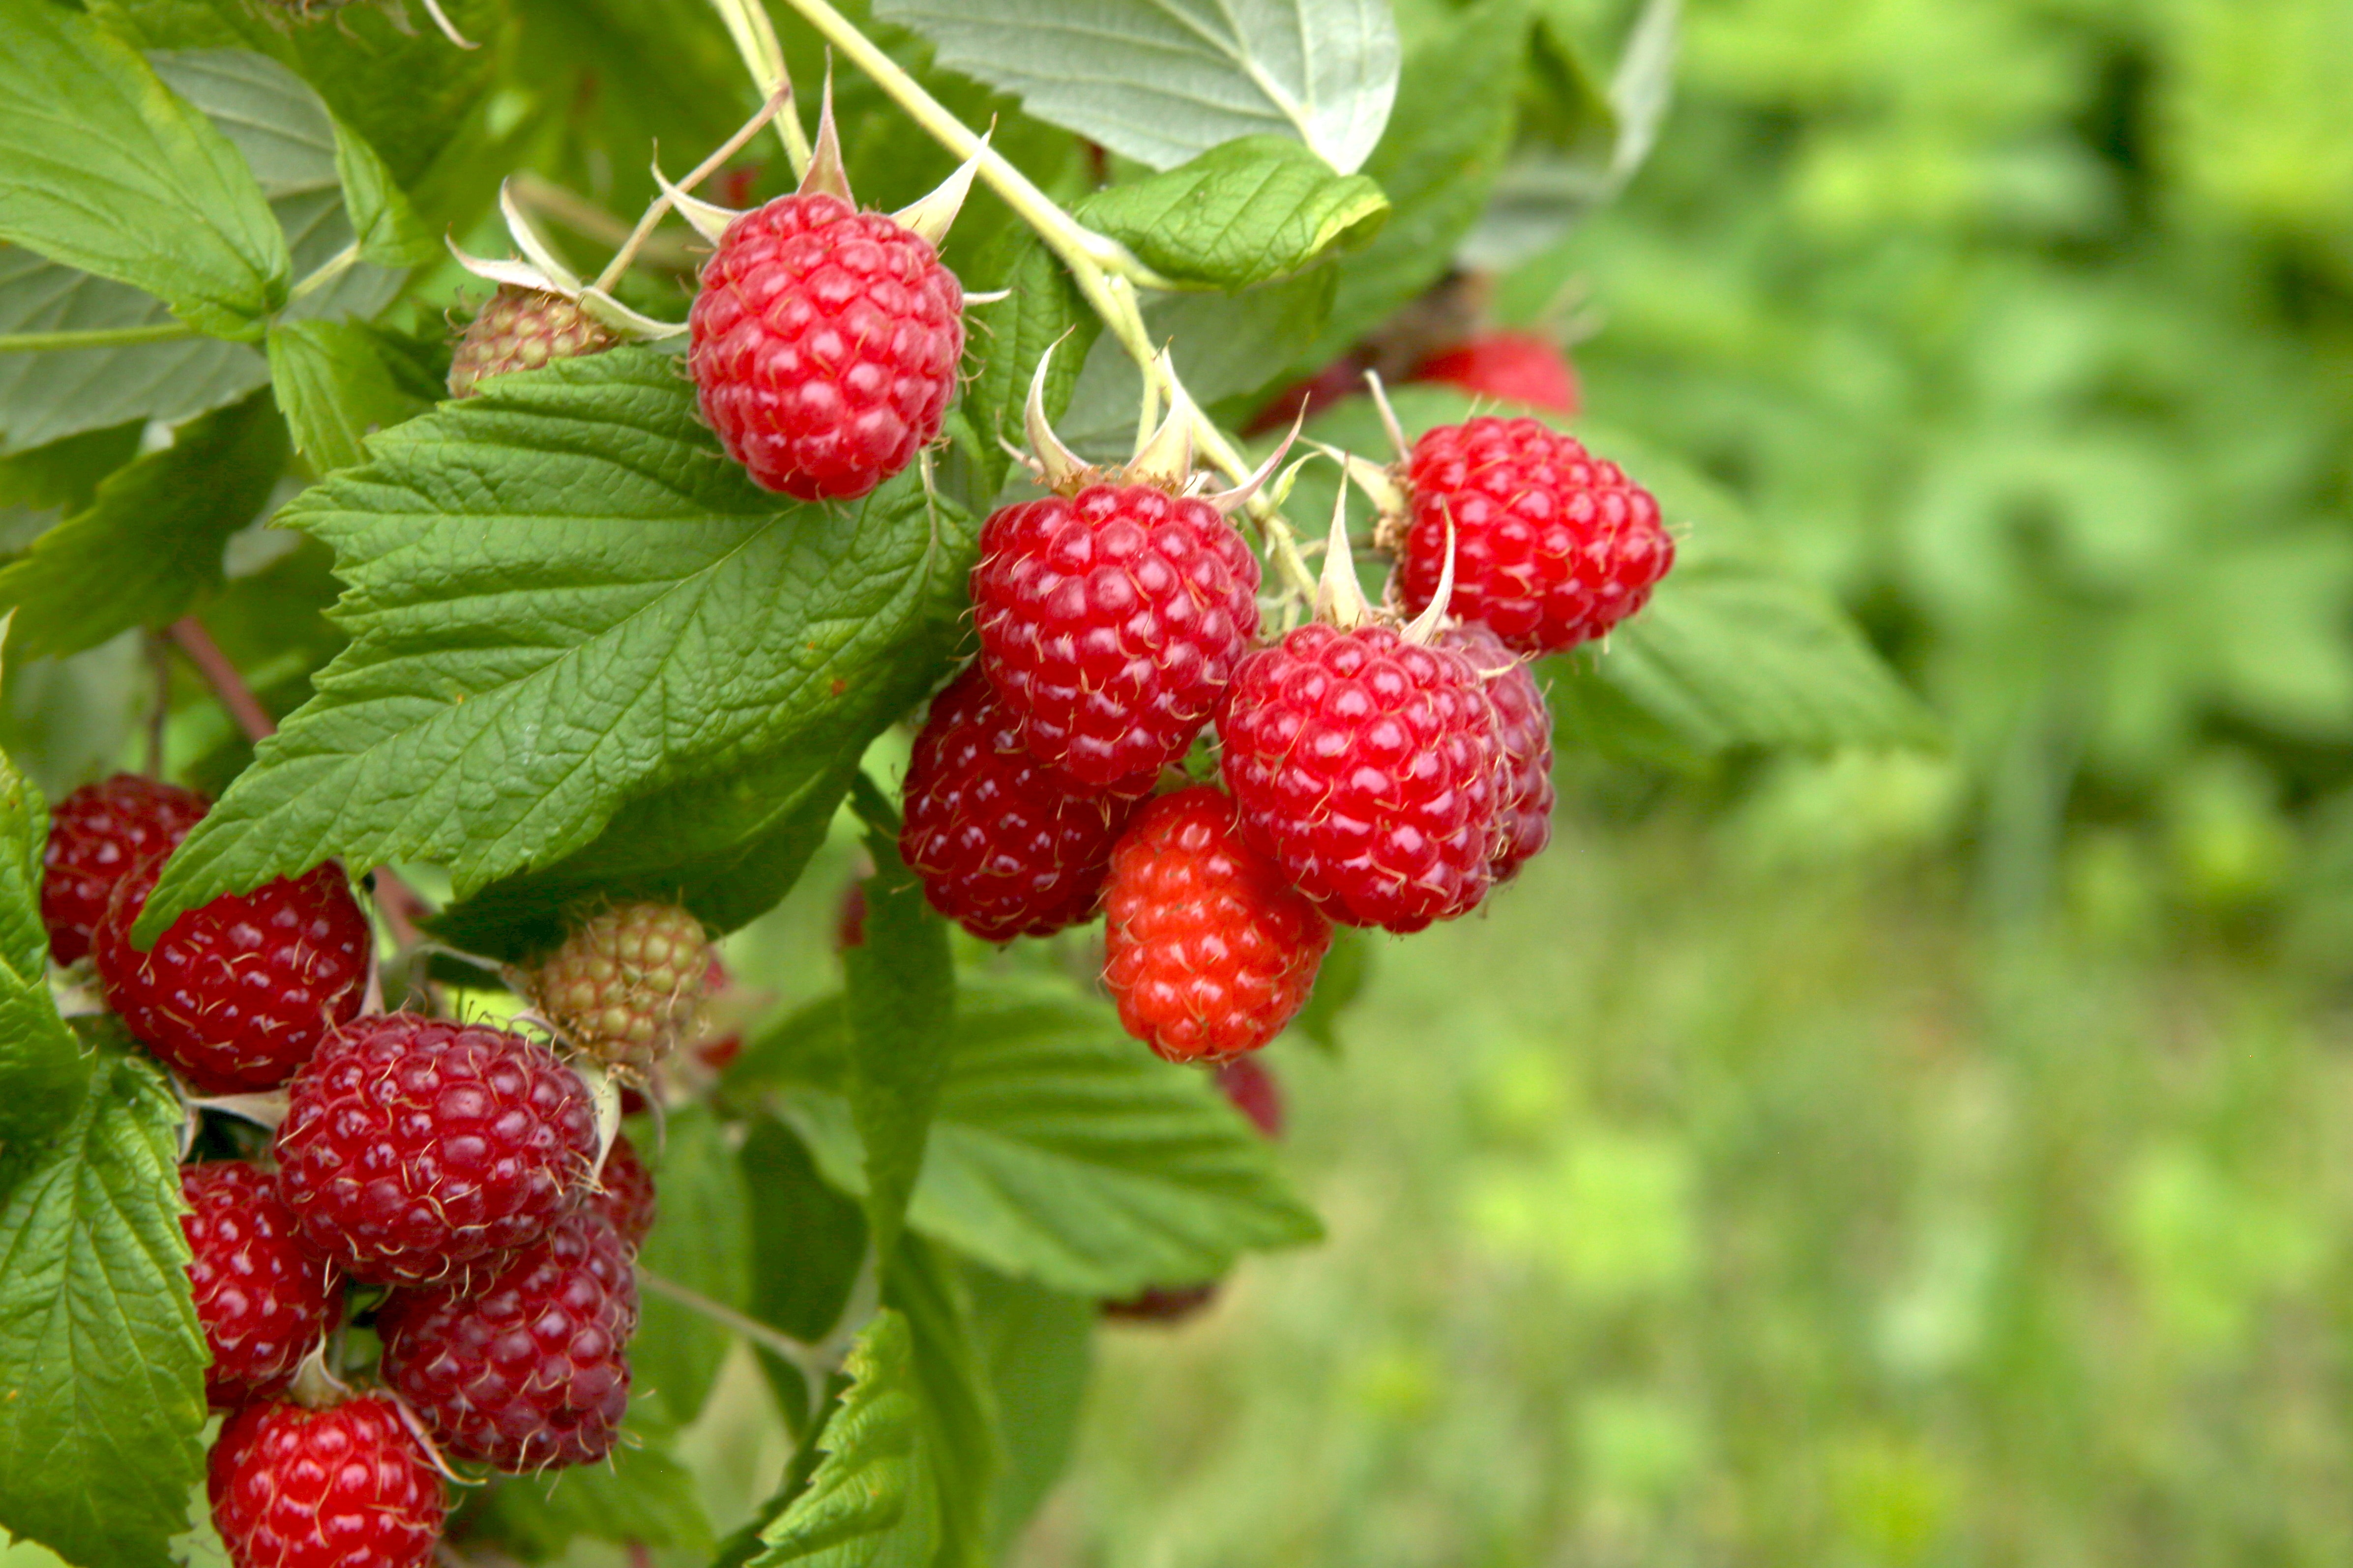
[{"label": "dark red raspberry at right of lower-left cluster, above bottommost berry", "polygon": [[384,1380],[461,1460],[529,1472],[612,1453],[628,1410],[638,1281],[598,1213],[574,1213],[480,1291],[395,1291]]}]

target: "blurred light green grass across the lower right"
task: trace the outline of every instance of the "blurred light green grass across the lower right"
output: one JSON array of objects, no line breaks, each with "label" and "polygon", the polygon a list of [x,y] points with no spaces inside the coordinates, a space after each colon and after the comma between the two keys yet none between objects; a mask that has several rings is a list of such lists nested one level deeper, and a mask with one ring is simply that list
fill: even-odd
[{"label": "blurred light green grass across the lower right", "polygon": [[2346,1018],[1602,816],[1278,1046],[1332,1239],[1101,1335],[1024,1568],[2346,1561]]}]

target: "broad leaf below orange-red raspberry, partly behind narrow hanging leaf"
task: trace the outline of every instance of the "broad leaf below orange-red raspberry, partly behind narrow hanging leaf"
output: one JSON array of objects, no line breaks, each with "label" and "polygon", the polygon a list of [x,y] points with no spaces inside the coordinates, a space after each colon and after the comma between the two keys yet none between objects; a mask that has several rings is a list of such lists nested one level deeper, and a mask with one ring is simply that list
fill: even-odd
[{"label": "broad leaf below orange-red raspberry, partly behind narrow hanging leaf", "polygon": [[[840,1095],[840,1006],[791,1020],[793,1053],[758,1041],[729,1077],[793,1072],[779,1107],[826,1180],[864,1185]],[[1061,992],[965,985],[908,1225],[1005,1274],[1089,1298],[1214,1279],[1247,1248],[1320,1237],[1273,1150],[1209,1079]]]}]

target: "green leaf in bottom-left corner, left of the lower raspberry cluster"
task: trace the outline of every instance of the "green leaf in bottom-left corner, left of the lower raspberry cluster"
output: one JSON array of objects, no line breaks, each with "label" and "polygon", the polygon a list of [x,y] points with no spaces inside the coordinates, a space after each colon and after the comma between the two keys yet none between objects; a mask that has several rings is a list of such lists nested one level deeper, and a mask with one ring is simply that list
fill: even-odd
[{"label": "green leaf in bottom-left corner, left of the lower raspberry cluster", "polygon": [[0,1519],[75,1563],[167,1561],[205,1472],[179,1128],[162,1070],[108,1051],[0,1164]]}]

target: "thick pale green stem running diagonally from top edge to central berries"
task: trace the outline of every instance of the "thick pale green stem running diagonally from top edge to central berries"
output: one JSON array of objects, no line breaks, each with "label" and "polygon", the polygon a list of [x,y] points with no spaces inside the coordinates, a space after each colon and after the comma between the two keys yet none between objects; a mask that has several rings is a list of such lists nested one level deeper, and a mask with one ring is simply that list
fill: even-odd
[{"label": "thick pale green stem running diagonally from top edge to central berries", "polygon": [[[1176,371],[1160,362],[1153,348],[1151,331],[1144,324],[1144,310],[1136,306],[1136,287],[1146,289],[1172,289],[1167,277],[1144,266],[1134,252],[1113,240],[1111,235],[1099,235],[1054,202],[1045,190],[1040,190],[1031,176],[1016,169],[1002,153],[986,146],[972,127],[958,120],[939,99],[925,92],[922,82],[908,75],[899,61],[885,54],[871,38],[856,31],[856,26],[842,16],[828,0],[786,0],[802,21],[816,28],[826,42],[847,54],[875,85],[892,96],[899,108],[908,113],[915,125],[932,134],[944,148],[958,158],[976,158],[979,174],[988,181],[988,188],[1005,197],[1005,205],[1021,216],[1024,223],[1038,230],[1066,268],[1071,277],[1078,280],[1078,292],[1087,299],[1087,306],[1104,317],[1104,329],[1111,331],[1113,341],[1136,362],[1144,371],[1146,400],[1155,393],[1167,390],[1169,402],[1176,402]],[[1240,484],[1249,477],[1249,461],[1235,449],[1226,433],[1209,423],[1207,414],[1195,409],[1193,414],[1193,447],[1228,480]],[[1292,534],[1289,522],[1282,520],[1280,508],[1266,496],[1252,496],[1247,508],[1252,522],[1259,524],[1259,534],[1266,538],[1268,550],[1275,557],[1275,567],[1289,578],[1294,592],[1315,597],[1315,574],[1306,569],[1299,557],[1299,541]]]}]

